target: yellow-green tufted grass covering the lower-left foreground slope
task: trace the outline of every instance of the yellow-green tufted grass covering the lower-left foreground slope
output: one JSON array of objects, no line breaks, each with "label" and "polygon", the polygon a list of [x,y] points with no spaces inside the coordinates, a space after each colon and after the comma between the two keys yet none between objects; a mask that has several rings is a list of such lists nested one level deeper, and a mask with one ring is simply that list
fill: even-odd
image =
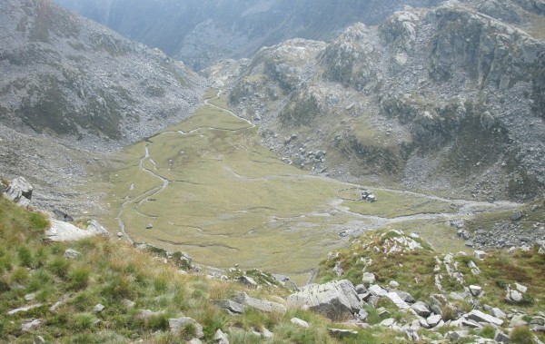
[{"label": "yellow-green tufted grass covering the lower-left foreground slope", "polygon": [[[212,340],[216,329],[228,331],[233,343],[399,342],[387,329],[362,330],[357,339],[335,339],[327,329],[341,325],[304,310],[282,315],[249,309],[242,316],[229,316],[211,300],[230,298],[243,290],[237,282],[184,276],[173,264],[120,241],[95,238],[45,243],[46,226],[43,215],[0,199],[0,341],[25,343],[39,335],[61,343],[173,343],[192,339],[195,333],[191,324],[179,334],[169,330],[169,319],[183,315],[203,325],[204,342]],[[64,258],[67,248],[81,252],[81,257]],[[263,277],[263,283],[272,281],[261,271],[248,273]],[[244,291],[263,299],[270,298],[272,292],[287,292],[277,284]],[[134,306],[127,300],[134,301]],[[99,303],[104,310],[94,311]],[[38,307],[7,315],[9,310],[26,305]],[[143,310],[151,313],[143,316]],[[311,329],[293,325],[292,317],[308,321]],[[40,319],[41,323],[21,331],[26,319]],[[263,339],[253,334],[263,328],[271,330],[274,337]]]}]

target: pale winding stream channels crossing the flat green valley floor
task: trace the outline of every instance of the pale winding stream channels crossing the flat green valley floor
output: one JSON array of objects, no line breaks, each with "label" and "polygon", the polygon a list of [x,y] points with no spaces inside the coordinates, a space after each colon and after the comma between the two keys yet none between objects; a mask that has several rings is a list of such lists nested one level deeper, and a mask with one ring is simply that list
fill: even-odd
[{"label": "pale winding stream channels crossing the flat green valley floor", "polygon": [[[195,129],[193,129],[191,131],[188,131],[188,132],[183,132],[181,130],[167,131],[167,132],[163,132],[163,133],[158,133],[157,136],[164,135],[164,134],[172,134],[172,133],[177,133],[177,134],[181,134],[181,135],[188,135],[188,134],[196,133],[196,132],[203,131],[203,130],[225,131],[225,132],[236,133],[236,132],[239,132],[239,131],[243,131],[243,130],[247,130],[247,129],[255,127],[254,123],[252,123],[251,121],[239,116],[236,113],[233,113],[233,111],[231,111],[231,110],[229,110],[227,108],[223,108],[221,106],[218,106],[216,104],[210,103],[210,101],[212,101],[213,99],[219,99],[220,96],[222,95],[222,93],[223,93],[222,90],[218,90],[217,94],[214,97],[205,99],[203,101],[203,105],[211,106],[213,108],[216,108],[216,109],[222,111],[223,113],[228,113],[229,115],[232,115],[236,119],[239,119],[239,120],[247,123],[248,124],[247,126],[244,126],[243,128],[239,128],[239,129],[224,129],[224,128],[214,128],[214,127],[210,127],[210,126],[203,126],[203,127],[195,128]],[[126,229],[125,229],[125,224],[124,224],[124,221],[123,221],[124,211],[126,210],[127,206],[129,206],[130,204],[142,205],[144,202],[149,201],[151,197],[154,197],[158,193],[163,192],[170,185],[170,183],[172,182],[172,181],[169,181],[168,179],[164,178],[163,176],[161,176],[160,174],[158,174],[156,172],[157,171],[157,166],[156,166],[154,160],[152,159],[152,157],[150,156],[150,151],[149,151],[149,147],[150,147],[151,144],[153,144],[153,143],[149,142],[149,143],[145,144],[144,156],[139,160],[138,168],[142,172],[145,172],[145,173],[151,175],[154,179],[161,182],[161,184],[159,186],[156,186],[156,187],[148,190],[148,191],[142,192],[142,193],[140,193],[140,194],[138,194],[138,195],[136,195],[136,196],[134,196],[132,198],[127,196],[127,198],[120,204],[119,211],[118,211],[117,217],[116,217],[121,232],[123,232],[124,237],[126,238],[126,240],[129,241],[132,244],[134,243],[134,241],[130,237],[130,235],[125,231]],[[248,150],[247,147],[243,147],[243,148]],[[146,162],[146,161],[152,164],[153,169],[145,167],[144,162]],[[259,177],[259,178],[249,178],[249,177],[246,177],[246,176],[243,176],[241,174],[238,174],[238,173],[234,172],[228,166],[225,166],[224,169],[226,171],[228,171],[228,172],[231,172],[233,174],[233,176],[235,176],[236,178],[243,179],[243,180],[246,180],[248,182],[251,182],[251,181],[268,181],[268,180],[282,178],[282,177],[289,177],[289,176],[286,176],[286,175],[270,174],[270,175],[266,175],[266,176]],[[304,179],[306,179],[306,178],[309,178],[309,179],[316,178],[316,179],[320,179],[320,180],[328,181],[328,182],[332,181],[331,179],[320,176],[320,175],[311,175],[311,174],[306,174],[305,175],[305,174],[303,174],[303,175],[300,175],[298,177],[304,178]],[[347,186],[352,186],[353,189],[362,188],[362,186],[355,185],[355,184],[346,184],[346,185]],[[455,219],[471,217],[472,215],[475,215],[475,214],[483,212],[483,211],[497,211],[497,210],[513,209],[513,208],[516,208],[516,207],[520,206],[519,203],[510,202],[510,201],[496,201],[494,203],[490,203],[490,202],[485,202],[485,201],[451,200],[451,199],[446,199],[446,198],[442,198],[442,197],[435,196],[435,195],[423,194],[423,193],[418,193],[418,192],[391,190],[391,189],[385,189],[385,188],[375,188],[375,189],[376,190],[380,189],[382,191],[399,193],[399,194],[404,194],[404,195],[410,195],[410,196],[414,196],[414,197],[424,197],[429,201],[449,202],[452,205],[457,206],[459,208],[455,212],[416,213],[416,214],[411,214],[411,215],[402,215],[402,216],[387,218],[387,217],[381,217],[381,216],[375,216],[375,215],[369,215],[369,214],[362,214],[362,213],[359,213],[359,212],[351,211],[351,209],[348,206],[343,205],[343,202],[346,201],[346,200],[343,200],[341,197],[338,197],[337,199],[330,201],[329,205],[331,206],[331,211],[338,211],[338,212],[341,212],[341,213],[348,216],[349,220],[347,221],[347,223],[345,224],[344,227],[345,227],[345,229],[348,229],[348,230],[351,231],[351,236],[361,234],[363,231],[378,229],[378,228],[381,228],[381,227],[385,227],[385,226],[388,226],[388,225],[391,225],[391,224],[394,224],[394,223],[403,222],[403,221],[450,221],[450,220],[455,220]],[[134,183],[131,185],[131,190],[134,190]],[[137,210],[135,210],[135,211],[137,211]],[[142,214],[142,212],[139,212],[139,211],[137,211],[137,212]],[[324,215],[324,214],[327,215],[328,211],[321,212],[321,214],[322,215]],[[149,217],[151,219],[156,218],[156,216],[155,217],[154,216],[148,216],[148,215],[145,215],[145,214],[142,214],[142,215],[147,216],[147,217]],[[304,218],[306,216],[309,216],[309,215],[318,216],[317,213],[304,213],[304,214],[302,214],[300,216],[295,216],[295,217],[292,217],[292,218],[278,218],[278,217],[273,217],[273,218],[279,219],[279,220],[297,221],[297,220],[302,219],[302,218]]]}]

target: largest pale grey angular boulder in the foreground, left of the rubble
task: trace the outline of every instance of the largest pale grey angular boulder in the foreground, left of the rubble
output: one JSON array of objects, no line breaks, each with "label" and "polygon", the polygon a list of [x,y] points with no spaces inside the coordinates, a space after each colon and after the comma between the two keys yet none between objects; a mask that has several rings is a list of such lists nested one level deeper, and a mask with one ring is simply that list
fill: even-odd
[{"label": "largest pale grey angular boulder in the foreground, left of the rubble", "polygon": [[290,295],[288,301],[335,320],[350,318],[362,310],[360,298],[350,280],[312,284]]}]

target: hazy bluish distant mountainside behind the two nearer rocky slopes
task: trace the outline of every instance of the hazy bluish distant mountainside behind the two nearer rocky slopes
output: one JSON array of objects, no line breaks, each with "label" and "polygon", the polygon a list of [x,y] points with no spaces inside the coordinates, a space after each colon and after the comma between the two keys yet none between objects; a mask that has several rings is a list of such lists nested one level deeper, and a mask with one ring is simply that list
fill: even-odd
[{"label": "hazy bluish distant mountainside behind the two nearer rocky slopes", "polygon": [[404,5],[439,0],[56,0],[75,12],[200,69],[263,45],[332,38],[357,21],[376,25]]}]

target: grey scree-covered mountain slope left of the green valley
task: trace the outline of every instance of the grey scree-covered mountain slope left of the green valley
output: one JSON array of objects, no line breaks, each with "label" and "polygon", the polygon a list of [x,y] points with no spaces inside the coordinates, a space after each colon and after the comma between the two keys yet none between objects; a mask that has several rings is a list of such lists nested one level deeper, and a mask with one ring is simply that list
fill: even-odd
[{"label": "grey scree-covered mountain slope left of the green valley", "polygon": [[79,184],[89,150],[156,133],[203,93],[183,63],[47,0],[3,1],[0,42],[0,171],[43,190]]}]

